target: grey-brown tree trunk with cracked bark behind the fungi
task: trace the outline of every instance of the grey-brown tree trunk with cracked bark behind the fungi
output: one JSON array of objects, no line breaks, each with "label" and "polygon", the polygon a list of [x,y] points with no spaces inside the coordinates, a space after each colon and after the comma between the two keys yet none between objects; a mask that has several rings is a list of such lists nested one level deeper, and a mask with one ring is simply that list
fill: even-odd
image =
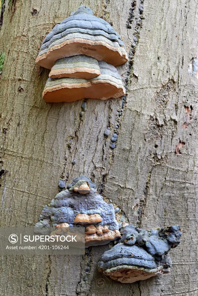
[{"label": "grey-brown tree trunk with cracked bark behind the fungi", "polygon": [[[197,57],[198,1],[1,2],[1,226],[34,226],[58,192],[58,180],[68,183],[82,173],[126,221],[144,229],[179,224],[183,236],[170,252],[170,274],[134,284],[98,273],[108,245],[89,247],[85,256],[2,256],[0,294],[198,295],[198,80],[188,73]],[[89,99],[82,118],[82,101],[45,103],[49,70],[35,65],[43,38],[80,4],[113,24],[129,54],[118,67],[126,100]],[[112,150],[104,130],[110,126],[112,135],[118,121]]]}]

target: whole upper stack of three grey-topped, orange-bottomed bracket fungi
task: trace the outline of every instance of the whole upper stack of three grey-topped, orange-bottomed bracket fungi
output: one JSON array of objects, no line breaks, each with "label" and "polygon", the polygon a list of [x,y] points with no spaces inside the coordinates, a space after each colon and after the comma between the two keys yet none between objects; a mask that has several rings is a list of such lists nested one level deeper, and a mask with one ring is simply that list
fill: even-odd
[{"label": "whole upper stack of three grey-topped, orange-bottomed bracket fungi", "polygon": [[46,102],[118,98],[125,89],[115,66],[127,62],[119,34],[81,5],[45,37],[37,65],[50,69]]}]

